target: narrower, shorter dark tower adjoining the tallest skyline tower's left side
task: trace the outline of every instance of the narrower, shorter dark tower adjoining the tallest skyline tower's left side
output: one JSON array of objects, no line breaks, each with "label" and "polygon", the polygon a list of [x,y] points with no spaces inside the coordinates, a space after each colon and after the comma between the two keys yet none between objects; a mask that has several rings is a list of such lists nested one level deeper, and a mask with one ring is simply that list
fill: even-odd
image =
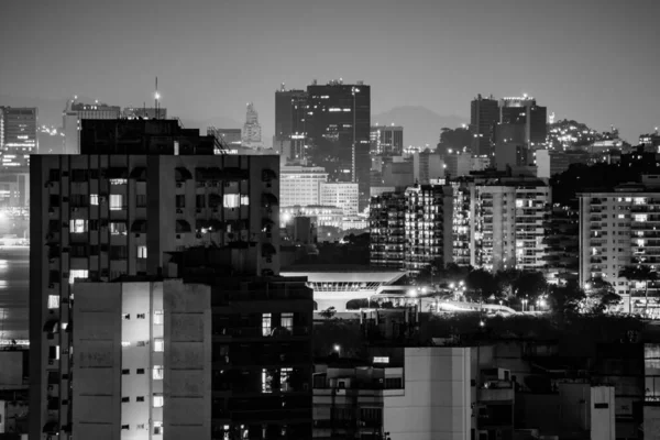
[{"label": "narrower, shorter dark tower adjoining the tallest skyline tower's left side", "polygon": [[[283,162],[300,163],[306,158],[307,142],[307,92],[286,90],[284,85],[275,91],[275,136],[274,145],[284,153]],[[286,151],[286,152],[285,152]]]}]

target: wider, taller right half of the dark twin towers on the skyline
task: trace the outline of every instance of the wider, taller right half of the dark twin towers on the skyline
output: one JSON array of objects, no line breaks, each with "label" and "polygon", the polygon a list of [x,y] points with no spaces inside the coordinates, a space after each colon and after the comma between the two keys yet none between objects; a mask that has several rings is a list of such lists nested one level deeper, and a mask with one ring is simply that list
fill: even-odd
[{"label": "wider, taller right half of the dark twin towers on the skyline", "polygon": [[307,87],[307,136],[310,158],[329,180],[360,187],[360,210],[369,205],[371,87],[341,80]]}]

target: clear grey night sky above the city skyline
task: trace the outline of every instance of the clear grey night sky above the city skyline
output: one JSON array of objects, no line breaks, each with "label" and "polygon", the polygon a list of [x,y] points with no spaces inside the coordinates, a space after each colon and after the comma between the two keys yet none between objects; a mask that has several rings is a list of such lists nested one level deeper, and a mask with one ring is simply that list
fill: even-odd
[{"label": "clear grey night sky above the city skyline", "polygon": [[[372,113],[469,118],[477,94],[528,94],[623,138],[660,125],[658,0],[21,0],[0,13],[0,95],[244,120],[274,91],[364,80]],[[0,102],[1,105],[1,102]],[[440,128],[438,128],[438,132]]]}]

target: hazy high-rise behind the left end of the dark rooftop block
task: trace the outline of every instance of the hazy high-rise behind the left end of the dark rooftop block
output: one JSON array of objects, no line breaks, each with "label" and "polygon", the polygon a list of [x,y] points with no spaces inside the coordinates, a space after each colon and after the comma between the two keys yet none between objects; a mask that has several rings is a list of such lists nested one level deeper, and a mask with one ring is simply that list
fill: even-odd
[{"label": "hazy high-rise behind the left end of the dark rooftop block", "polygon": [[66,102],[66,108],[62,113],[62,123],[64,128],[64,154],[80,153],[80,130],[84,119],[119,119],[121,108],[119,106],[108,106],[98,101],[88,105],[76,102],[75,99]]}]

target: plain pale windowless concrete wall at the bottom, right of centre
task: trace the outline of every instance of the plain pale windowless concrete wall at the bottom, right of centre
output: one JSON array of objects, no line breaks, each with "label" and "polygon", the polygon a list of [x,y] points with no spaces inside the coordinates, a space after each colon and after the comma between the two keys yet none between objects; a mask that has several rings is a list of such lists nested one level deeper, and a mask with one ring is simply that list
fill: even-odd
[{"label": "plain pale windowless concrete wall at the bottom, right of centre", "polygon": [[393,439],[470,438],[470,350],[405,349],[404,394],[384,399],[384,429]]}]

